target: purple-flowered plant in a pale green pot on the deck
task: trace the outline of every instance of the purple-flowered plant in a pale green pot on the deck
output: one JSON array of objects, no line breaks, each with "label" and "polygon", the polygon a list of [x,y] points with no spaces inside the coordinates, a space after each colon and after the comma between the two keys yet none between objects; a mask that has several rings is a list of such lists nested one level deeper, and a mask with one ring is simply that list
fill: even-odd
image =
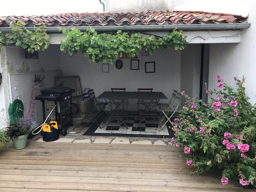
[{"label": "purple-flowered plant in a pale green pot on the deck", "polygon": [[31,124],[31,118],[20,118],[7,128],[7,133],[12,138],[15,149],[26,148]]}]

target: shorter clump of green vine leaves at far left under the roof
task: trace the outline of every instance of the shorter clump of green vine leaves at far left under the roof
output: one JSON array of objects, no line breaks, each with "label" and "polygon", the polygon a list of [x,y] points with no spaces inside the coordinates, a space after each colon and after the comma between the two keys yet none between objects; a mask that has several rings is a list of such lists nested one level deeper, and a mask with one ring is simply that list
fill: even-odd
[{"label": "shorter clump of green vine leaves at far left under the roof", "polygon": [[50,36],[46,33],[46,26],[39,23],[39,27],[34,26],[34,31],[27,30],[25,23],[20,20],[10,24],[11,34],[2,34],[0,31],[0,50],[3,45],[15,44],[17,47],[34,51],[45,50],[50,45]]}]

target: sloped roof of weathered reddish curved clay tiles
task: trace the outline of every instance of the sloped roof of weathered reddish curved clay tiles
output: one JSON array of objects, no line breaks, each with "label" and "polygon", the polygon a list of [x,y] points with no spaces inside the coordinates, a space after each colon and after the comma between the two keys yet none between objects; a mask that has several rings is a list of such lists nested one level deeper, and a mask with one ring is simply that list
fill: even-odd
[{"label": "sloped roof of weathered reddish curved clay tiles", "polygon": [[246,18],[232,14],[192,11],[149,11],[140,13],[62,13],[41,16],[0,17],[0,26],[23,20],[26,26],[120,26],[120,25],[165,25],[165,24],[210,24],[246,22]]}]

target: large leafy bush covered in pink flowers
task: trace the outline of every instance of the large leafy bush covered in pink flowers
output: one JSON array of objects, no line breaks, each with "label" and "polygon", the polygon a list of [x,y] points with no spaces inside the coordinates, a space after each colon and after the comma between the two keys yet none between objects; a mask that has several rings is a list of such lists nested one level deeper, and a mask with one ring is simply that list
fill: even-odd
[{"label": "large leafy bush covered in pink flowers", "polygon": [[218,90],[206,93],[211,102],[182,95],[186,103],[172,123],[172,144],[183,150],[194,173],[222,171],[220,182],[233,178],[244,187],[256,187],[256,105],[245,95],[242,80],[234,78],[237,90],[216,76]]}]

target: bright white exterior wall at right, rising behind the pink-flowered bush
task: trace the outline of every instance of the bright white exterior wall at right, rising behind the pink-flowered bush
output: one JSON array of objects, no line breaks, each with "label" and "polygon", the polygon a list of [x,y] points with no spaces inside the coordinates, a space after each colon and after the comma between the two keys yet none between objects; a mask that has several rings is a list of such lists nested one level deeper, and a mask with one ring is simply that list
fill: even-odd
[{"label": "bright white exterior wall at right, rising behind the pink-flowered bush", "polygon": [[[230,86],[235,86],[234,76],[246,77],[246,94],[250,102],[256,102],[256,1],[250,1],[250,14],[248,22],[250,28],[241,32],[241,42],[239,44],[210,44],[210,74],[209,88],[216,88],[216,74],[224,77],[225,82]],[[235,86],[236,87],[236,86]]]}]

